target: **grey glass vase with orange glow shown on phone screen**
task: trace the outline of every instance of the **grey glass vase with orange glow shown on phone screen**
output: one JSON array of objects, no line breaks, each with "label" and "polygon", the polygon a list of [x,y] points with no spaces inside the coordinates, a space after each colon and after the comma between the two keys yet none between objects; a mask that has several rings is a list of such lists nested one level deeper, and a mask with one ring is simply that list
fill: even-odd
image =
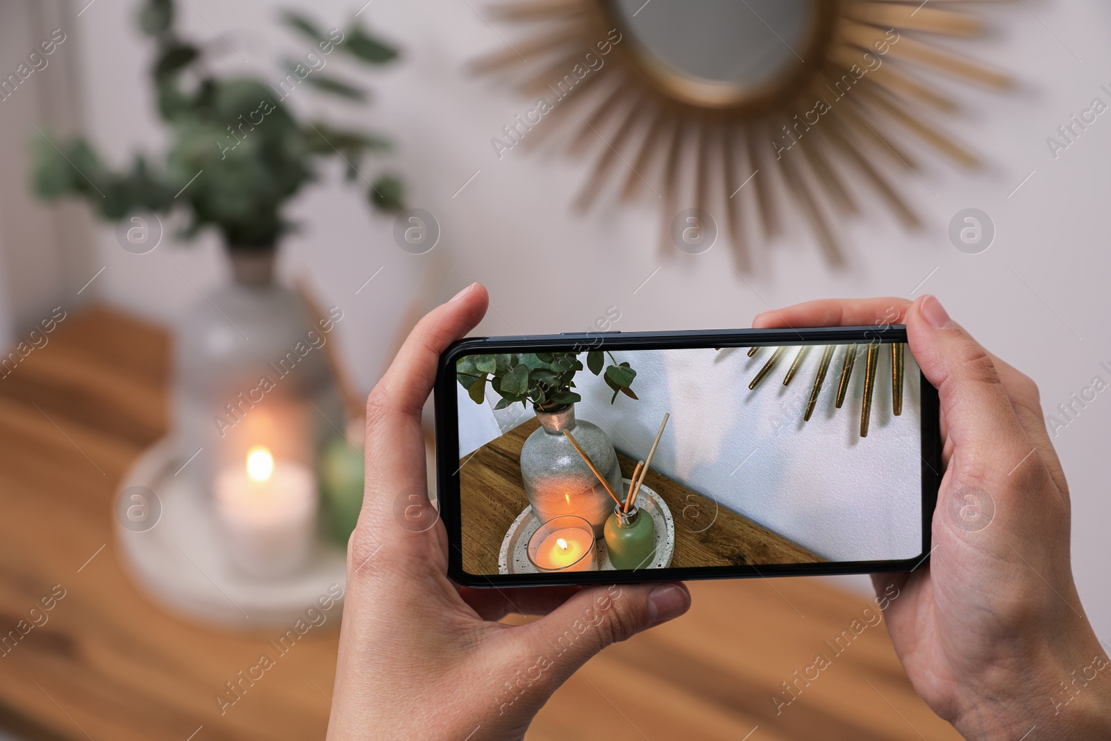
[{"label": "grey glass vase with orange glow shown on phone screen", "polygon": [[614,492],[622,489],[621,467],[609,437],[597,424],[575,420],[574,404],[537,410],[540,427],[521,448],[521,477],[533,513],[547,522],[563,514],[581,517],[601,538],[613,500],[590,470],[571,441],[568,430],[605,477]]}]

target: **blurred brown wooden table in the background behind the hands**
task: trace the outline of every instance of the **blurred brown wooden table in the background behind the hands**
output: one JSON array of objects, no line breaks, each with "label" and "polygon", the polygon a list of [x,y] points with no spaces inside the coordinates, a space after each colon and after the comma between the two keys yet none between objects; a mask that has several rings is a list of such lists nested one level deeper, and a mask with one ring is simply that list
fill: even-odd
[{"label": "blurred brown wooden table in the background behind the hands", "polygon": [[[268,633],[179,619],[124,574],[111,505],[168,427],[167,334],[68,317],[0,379],[0,635],[62,584],[49,622],[0,657],[0,725],[51,741],[321,739],[337,634],[316,630],[221,715],[213,695]],[[868,600],[812,579],[700,582],[684,618],[590,661],[530,740],[959,738],[913,693],[882,625],[774,714],[772,694]],[[198,730],[200,729],[200,730]],[[461,741],[461,740],[457,740]]]}]

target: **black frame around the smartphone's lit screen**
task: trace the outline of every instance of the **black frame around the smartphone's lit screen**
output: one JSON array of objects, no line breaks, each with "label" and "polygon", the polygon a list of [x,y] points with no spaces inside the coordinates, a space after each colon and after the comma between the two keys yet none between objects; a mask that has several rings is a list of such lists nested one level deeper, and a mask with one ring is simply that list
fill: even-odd
[{"label": "black frame around the smartphone's lit screen", "polygon": [[[588,350],[679,350],[750,348],[753,346],[868,344],[907,342],[903,324],[887,327],[813,327],[800,329],[728,329],[678,332],[571,332],[517,337],[474,337],[453,342],[437,368],[436,473],[440,519],[448,531],[448,575],[464,587],[556,587],[613,584],[693,579],[807,577],[913,571],[930,558],[931,525],[941,485],[941,429],[938,391],[921,375],[922,552],[894,561],[835,563],[769,563],[725,567],[685,567],[573,573],[472,574],[463,570],[460,499],[459,418],[456,361],[468,354],[504,352],[585,352]],[[921,374],[921,371],[919,371]]]}]

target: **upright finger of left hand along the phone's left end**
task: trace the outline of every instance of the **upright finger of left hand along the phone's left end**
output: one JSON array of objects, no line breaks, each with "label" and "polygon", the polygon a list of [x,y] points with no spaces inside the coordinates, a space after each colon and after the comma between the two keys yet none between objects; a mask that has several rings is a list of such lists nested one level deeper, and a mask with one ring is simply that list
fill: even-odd
[{"label": "upright finger of left hand along the phone's left end", "polygon": [[[407,565],[443,562],[442,525],[427,502],[421,409],[436,381],[440,353],[474,328],[488,301],[486,289],[476,283],[429,312],[371,391],[366,484],[359,522],[348,542],[349,577],[376,573],[383,565],[403,575]],[[410,512],[421,517],[409,518]]]}]

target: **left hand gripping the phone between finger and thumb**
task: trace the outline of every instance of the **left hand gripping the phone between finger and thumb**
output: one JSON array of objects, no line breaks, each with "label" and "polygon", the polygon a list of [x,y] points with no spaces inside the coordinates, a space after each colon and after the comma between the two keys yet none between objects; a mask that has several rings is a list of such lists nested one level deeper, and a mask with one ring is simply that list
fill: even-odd
[{"label": "left hand gripping the phone between finger and thumb", "polygon": [[[420,415],[440,353],[487,304],[476,283],[424,317],[367,401],[367,485],[348,544],[332,741],[520,739],[588,659],[690,607],[682,584],[473,590],[448,579]],[[494,622],[510,612],[547,617]]]}]

